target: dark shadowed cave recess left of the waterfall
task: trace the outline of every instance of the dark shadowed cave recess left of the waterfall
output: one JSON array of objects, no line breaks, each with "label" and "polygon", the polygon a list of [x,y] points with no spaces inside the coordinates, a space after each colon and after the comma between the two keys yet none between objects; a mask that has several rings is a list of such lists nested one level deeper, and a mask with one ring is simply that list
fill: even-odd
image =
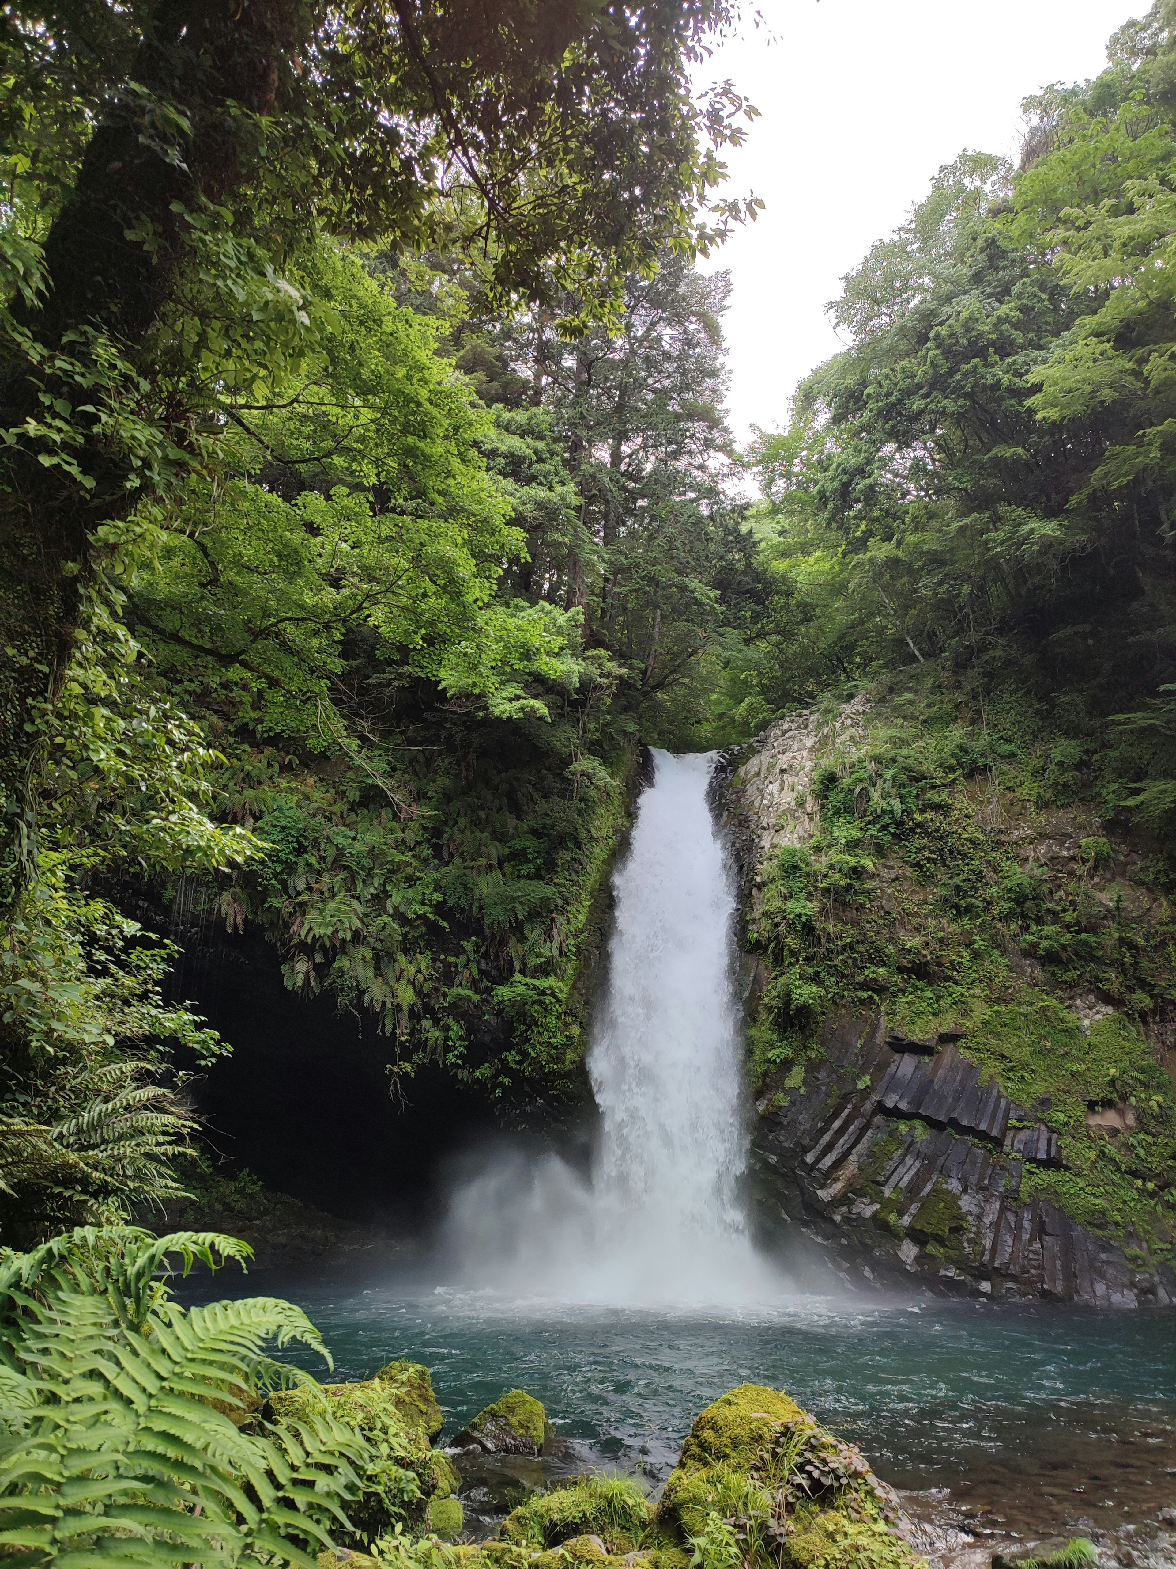
[{"label": "dark shadowed cave recess left of the waterfall", "polygon": [[260,935],[187,941],[169,988],[232,1045],[194,1084],[213,1159],[347,1221],[403,1232],[441,1203],[441,1169],[495,1128],[439,1068],[394,1092],[395,1043],[332,996],[296,996]]}]

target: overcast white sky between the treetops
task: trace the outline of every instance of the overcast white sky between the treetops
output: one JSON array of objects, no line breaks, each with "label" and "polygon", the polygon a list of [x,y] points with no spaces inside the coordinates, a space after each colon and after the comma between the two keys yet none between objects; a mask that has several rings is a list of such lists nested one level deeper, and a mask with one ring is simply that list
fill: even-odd
[{"label": "overcast white sky between the treetops", "polygon": [[[1149,0],[757,0],[699,78],[731,77],[760,110],[728,158],[732,193],[767,202],[704,270],[731,270],[731,416],[787,422],[803,375],[840,347],[823,308],[842,273],[902,223],[963,147],[1018,155],[1019,104],[1105,64],[1107,38]],[[745,9],[756,0],[745,0]]]}]

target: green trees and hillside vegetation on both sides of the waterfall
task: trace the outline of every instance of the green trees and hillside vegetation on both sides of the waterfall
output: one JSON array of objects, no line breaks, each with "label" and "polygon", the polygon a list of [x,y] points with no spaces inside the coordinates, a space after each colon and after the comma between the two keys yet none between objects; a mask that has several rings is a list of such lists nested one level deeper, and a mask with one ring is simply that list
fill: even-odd
[{"label": "green trees and hillside vegetation on both sides of the waterfall", "polygon": [[[754,111],[685,89],[732,17],[499,13],[458,49],[398,9],[381,53],[340,8],[345,58],[287,17],[252,108],[245,35],[194,82],[147,11],[94,8],[100,63],[5,22],[5,1238],[183,1188],[191,1078],[249,1051],[171,999],[185,912],[373,1026],[409,1106],[425,1067],[503,1117],[582,1101],[641,744],[858,692],[760,919],[756,1068],[834,1006],[966,1028],[1079,1155],[1079,1105],[1131,1100],[1068,1203],[1138,1219],[1173,1158],[1176,16],[1032,100],[1021,168],[939,171],[740,455],[696,262],[754,215],[715,195]],[[147,149],[119,191],[91,137]],[[96,213],[138,254],[105,304]],[[1077,993],[1118,1023],[1074,1036]]]}]

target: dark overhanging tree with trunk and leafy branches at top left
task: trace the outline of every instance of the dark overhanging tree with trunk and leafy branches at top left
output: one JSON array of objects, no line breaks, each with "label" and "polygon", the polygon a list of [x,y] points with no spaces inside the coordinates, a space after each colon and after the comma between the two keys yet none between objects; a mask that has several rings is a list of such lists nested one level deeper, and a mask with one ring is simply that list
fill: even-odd
[{"label": "dark overhanging tree with trunk and leafy branches at top left", "polygon": [[58,689],[149,499],[218,461],[224,399],[281,402],[321,353],[307,245],[477,246],[502,304],[574,287],[580,322],[607,311],[735,217],[707,193],[743,104],[687,78],[729,20],[713,0],[5,13],[9,882],[36,855],[22,709]]}]

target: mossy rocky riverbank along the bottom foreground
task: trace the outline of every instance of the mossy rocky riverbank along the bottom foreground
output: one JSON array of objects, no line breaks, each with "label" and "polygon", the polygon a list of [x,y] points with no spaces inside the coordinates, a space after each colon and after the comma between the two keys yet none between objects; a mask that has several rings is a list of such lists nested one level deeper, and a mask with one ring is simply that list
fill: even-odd
[{"label": "mossy rocky riverbank along the bottom foreground", "polygon": [[[304,1415],[306,1390],[271,1396],[251,1420]],[[334,1417],[375,1440],[412,1487],[381,1476],[351,1509],[354,1530],[321,1569],[1171,1569],[1176,1476],[1152,1448],[1152,1497],[1096,1523],[1085,1498],[1123,1461],[1055,1454],[1051,1491],[1010,1505],[1010,1481],[963,1478],[955,1492],[898,1492],[851,1443],[787,1393],[743,1384],[702,1411],[662,1484],[575,1470],[544,1407],[506,1392],[445,1448],[428,1370],[389,1363],[359,1384],[325,1385]],[[1157,1434],[1148,1434],[1156,1440]],[[1093,1459],[1093,1464],[1091,1464]],[[1145,1467],[1146,1469],[1146,1467]],[[1033,1465],[1025,1469],[1033,1472]],[[1074,1478],[1082,1478],[1074,1481]],[[1057,1503],[1063,1487],[1069,1502]],[[1138,1489],[1137,1489],[1138,1491]],[[1120,1489],[1115,1489],[1116,1497]],[[1051,1506],[1055,1505],[1055,1506]],[[1112,1508],[1112,1505],[1107,1505]],[[1002,1513],[1004,1511],[1004,1513]]]}]

